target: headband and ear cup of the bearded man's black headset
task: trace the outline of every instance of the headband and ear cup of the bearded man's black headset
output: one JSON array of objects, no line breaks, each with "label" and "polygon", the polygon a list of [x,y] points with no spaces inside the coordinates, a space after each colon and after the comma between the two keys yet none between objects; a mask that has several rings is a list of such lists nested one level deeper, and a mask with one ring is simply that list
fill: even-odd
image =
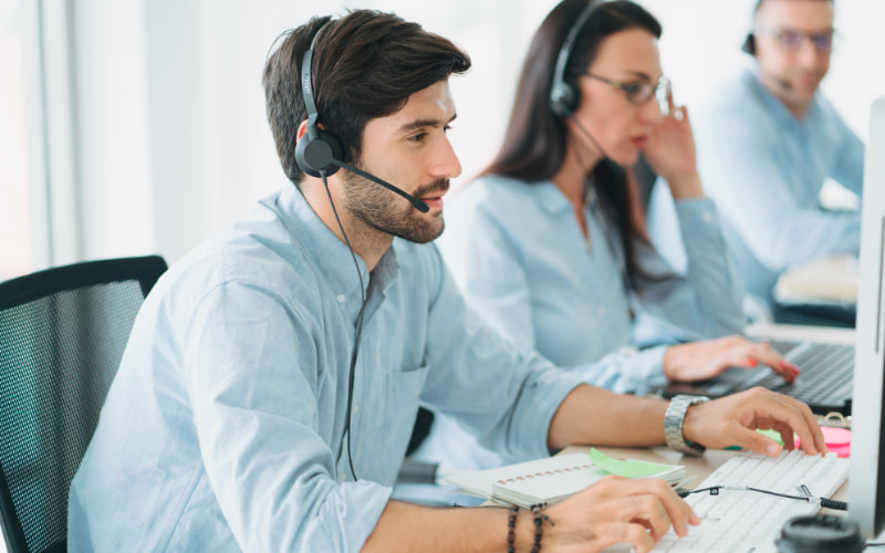
[{"label": "headband and ear cup of the bearded man's black headset", "polygon": [[326,21],[316,31],[311,41],[311,48],[304,52],[304,58],[301,60],[301,90],[304,96],[304,109],[308,112],[308,132],[295,146],[295,161],[301,167],[301,170],[311,177],[320,177],[322,174],[327,177],[334,174],[339,170],[339,166],[333,164],[332,160],[344,159],[344,148],[341,147],[341,142],[337,137],[332,133],[322,131],[316,125],[320,114],[313,100],[313,75],[311,72],[313,48],[316,45],[316,39],[320,38],[323,29],[330,22]]}]

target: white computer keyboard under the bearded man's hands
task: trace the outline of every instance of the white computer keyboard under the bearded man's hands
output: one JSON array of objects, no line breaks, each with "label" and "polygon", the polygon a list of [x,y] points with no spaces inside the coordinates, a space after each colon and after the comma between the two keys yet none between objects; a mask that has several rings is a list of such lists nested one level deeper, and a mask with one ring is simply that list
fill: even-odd
[{"label": "white computer keyboard under the bearded man's hands", "polygon": [[[778,458],[740,452],[722,463],[696,489],[714,486],[752,487],[790,495],[802,495],[804,484],[815,498],[830,498],[848,478],[848,460],[835,453],[806,456],[783,451]],[[693,493],[686,498],[701,518],[699,526],[689,526],[688,535],[673,530],[654,551],[715,551],[717,553],[777,552],[774,540],[783,523],[792,517],[814,514],[816,502],[779,498],[754,491],[719,490]]]}]

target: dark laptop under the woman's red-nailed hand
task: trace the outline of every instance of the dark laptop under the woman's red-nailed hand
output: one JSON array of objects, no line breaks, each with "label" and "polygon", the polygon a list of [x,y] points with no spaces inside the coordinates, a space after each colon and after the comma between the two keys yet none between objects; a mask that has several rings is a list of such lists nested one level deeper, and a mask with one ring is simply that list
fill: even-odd
[{"label": "dark laptop under the woman's red-nailed hand", "polygon": [[669,383],[660,390],[660,395],[666,398],[678,394],[716,398],[762,386],[808,404],[818,415],[851,415],[853,345],[781,341],[771,341],[769,344],[802,371],[792,384],[770,368],[731,367],[709,380]]}]

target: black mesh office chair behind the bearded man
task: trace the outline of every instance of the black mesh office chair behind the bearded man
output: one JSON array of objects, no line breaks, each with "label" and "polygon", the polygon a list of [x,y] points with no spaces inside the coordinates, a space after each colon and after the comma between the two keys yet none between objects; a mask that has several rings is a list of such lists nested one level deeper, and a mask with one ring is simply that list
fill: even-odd
[{"label": "black mesh office chair behind the bearded man", "polygon": [[63,552],[67,492],[163,258],[0,283],[0,517],[7,547]]}]

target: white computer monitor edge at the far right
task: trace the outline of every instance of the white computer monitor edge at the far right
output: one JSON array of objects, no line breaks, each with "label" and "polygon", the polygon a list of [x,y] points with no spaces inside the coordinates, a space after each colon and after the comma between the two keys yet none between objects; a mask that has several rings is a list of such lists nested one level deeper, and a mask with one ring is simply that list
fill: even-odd
[{"label": "white computer monitor edge at the far right", "polygon": [[885,96],[873,104],[865,159],[848,517],[873,538],[885,529]]}]

